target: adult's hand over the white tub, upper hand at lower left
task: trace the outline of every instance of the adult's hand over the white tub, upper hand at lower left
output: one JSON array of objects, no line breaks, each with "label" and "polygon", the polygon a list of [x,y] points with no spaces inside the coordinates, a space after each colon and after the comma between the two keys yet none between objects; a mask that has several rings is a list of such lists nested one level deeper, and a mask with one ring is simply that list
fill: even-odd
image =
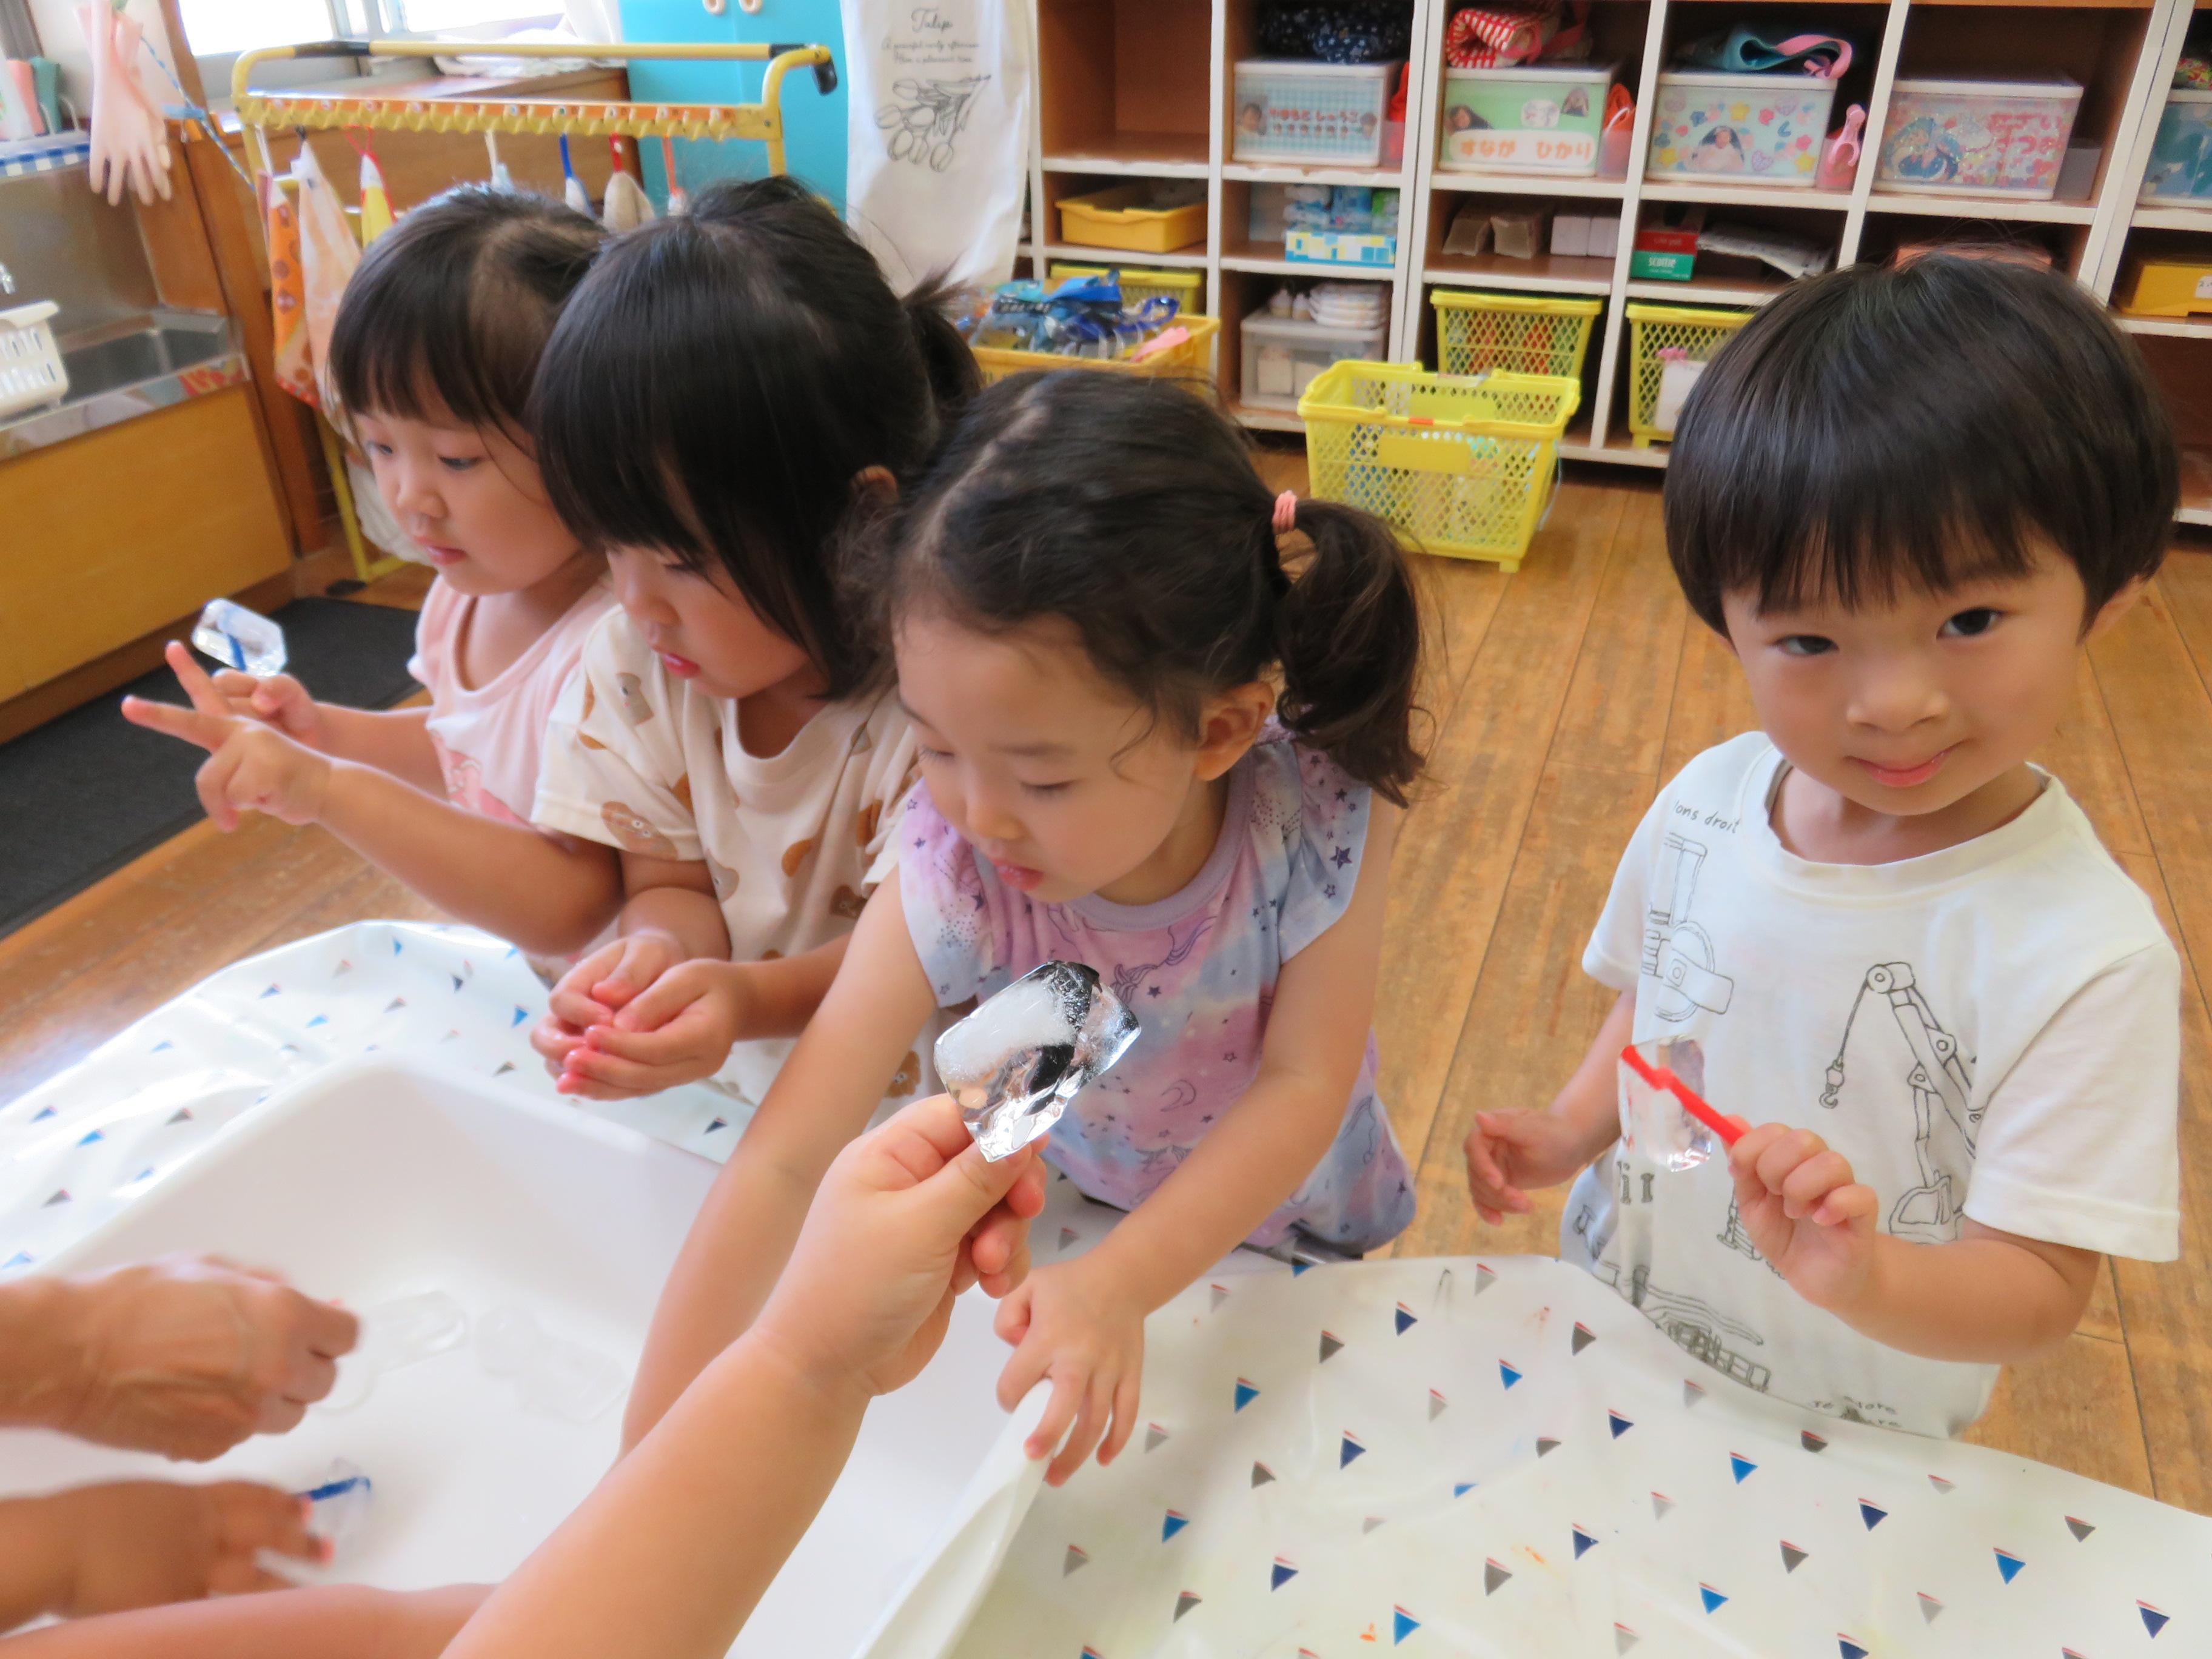
[{"label": "adult's hand over the white tub, upper hand at lower left", "polygon": [[276,1274],[164,1256],[62,1281],[75,1376],[49,1427],[204,1462],[292,1429],[358,1321]]}]

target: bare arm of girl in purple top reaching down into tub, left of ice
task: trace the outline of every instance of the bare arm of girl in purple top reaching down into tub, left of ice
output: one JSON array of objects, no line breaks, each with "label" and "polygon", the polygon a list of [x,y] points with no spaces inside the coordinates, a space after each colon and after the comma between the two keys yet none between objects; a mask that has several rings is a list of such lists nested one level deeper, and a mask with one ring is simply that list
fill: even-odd
[{"label": "bare arm of girl in purple top reaching down into tub, left of ice", "polygon": [[661,1413],[761,1310],[830,1159],[865,1128],[936,1009],[891,876],[867,900],[821,1013],[714,1179],[637,1363],[622,1444]]}]

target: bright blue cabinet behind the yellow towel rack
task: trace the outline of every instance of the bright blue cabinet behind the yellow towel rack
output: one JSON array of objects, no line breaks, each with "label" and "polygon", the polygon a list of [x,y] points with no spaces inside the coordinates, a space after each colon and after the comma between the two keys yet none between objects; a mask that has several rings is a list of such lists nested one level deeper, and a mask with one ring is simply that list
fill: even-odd
[{"label": "bright blue cabinet behind the yellow towel rack", "polygon": [[[838,88],[821,93],[805,71],[783,77],[783,142],[790,170],[845,210],[845,24],[838,0],[761,0],[745,11],[728,0],[717,18],[703,0],[622,0],[624,40],[706,40],[821,44],[838,60]],[[759,64],[630,64],[630,97],[639,102],[750,104],[761,95]],[[661,146],[644,144],[646,188],[666,199]],[[714,179],[752,179],[768,170],[761,144],[677,139],[677,179],[697,192]]]}]

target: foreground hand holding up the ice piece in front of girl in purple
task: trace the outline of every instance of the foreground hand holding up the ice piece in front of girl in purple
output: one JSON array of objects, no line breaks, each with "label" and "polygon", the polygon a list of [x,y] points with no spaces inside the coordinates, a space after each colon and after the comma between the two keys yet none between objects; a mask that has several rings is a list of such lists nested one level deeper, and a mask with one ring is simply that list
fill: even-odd
[{"label": "foreground hand holding up the ice piece in front of girl in purple", "polygon": [[1035,1148],[989,1164],[949,1095],[916,1102],[838,1152],[743,1340],[825,1394],[889,1394],[938,1352],[962,1290],[1022,1283],[1040,1210]]}]

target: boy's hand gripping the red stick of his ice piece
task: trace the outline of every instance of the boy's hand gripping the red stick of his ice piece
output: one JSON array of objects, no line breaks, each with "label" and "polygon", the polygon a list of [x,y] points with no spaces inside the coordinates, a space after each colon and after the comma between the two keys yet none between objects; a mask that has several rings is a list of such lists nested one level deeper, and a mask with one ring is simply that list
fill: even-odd
[{"label": "boy's hand gripping the red stick of his ice piece", "polygon": [[1880,1199],[1843,1152],[1809,1128],[1761,1124],[1730,1148],[1728,1168],[1743,1230],[1798,1296],[1832,1312],[1865,1296]]}]

